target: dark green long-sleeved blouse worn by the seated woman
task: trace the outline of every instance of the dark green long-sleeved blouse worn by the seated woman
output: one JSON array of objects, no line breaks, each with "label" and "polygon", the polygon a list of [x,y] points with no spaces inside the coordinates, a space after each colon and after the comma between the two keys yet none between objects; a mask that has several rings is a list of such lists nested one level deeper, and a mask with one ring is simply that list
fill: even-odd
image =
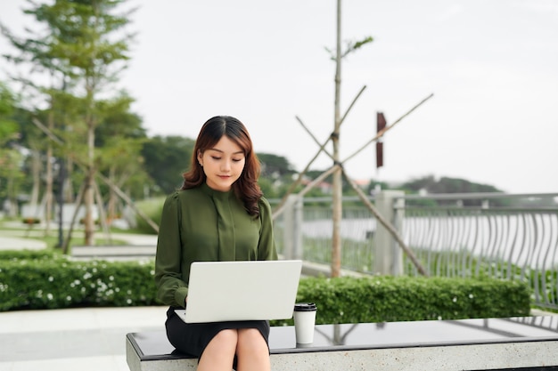
[{"label": "dark green long-sleeved blouse worn by the seated woman", "polygon": [[160,220],[155,258],[157,297],[185,306],[192,262],[276,260],[271,206],[259,201],[250,216],[234,191],[207,184],[168,196]]}]

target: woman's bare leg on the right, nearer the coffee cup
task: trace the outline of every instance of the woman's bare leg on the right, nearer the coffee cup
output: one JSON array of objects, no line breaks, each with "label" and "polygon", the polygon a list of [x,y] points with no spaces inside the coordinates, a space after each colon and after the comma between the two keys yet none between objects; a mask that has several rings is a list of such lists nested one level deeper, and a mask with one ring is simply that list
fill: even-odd
[{"label": "woman's bare leg on the right, nearer the coffee cup", "polygon": [[238,371],[270,371],[269,348],[257,328],[239,328],[236,345]]}]

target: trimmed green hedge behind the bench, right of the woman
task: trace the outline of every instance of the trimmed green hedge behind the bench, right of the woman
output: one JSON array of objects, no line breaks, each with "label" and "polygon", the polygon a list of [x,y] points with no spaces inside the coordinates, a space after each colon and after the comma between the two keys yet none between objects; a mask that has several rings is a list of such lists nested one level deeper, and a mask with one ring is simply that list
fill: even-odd
[{"label": "trimmed green hedge behind the bench, right of the woman", "polygon": [[528,286],[490,278],[304,278],[297,301],[316,302],[317,324],[504,318],[530,311]]}]

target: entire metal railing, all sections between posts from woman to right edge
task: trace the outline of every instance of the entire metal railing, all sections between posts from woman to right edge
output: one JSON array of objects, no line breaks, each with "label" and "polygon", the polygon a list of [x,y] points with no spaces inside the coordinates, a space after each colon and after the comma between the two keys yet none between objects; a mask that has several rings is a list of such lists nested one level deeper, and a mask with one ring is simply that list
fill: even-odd
[{"label": "entire metal railing, all sections between posts from woman to right edge", "polygon": [[[558,193],[404,196],[390,221],[431,276],[519,279],[537,306],[558,309]],[[374,198],[371,198],[373,202]],[[331,202],[331,201],[330,201]],[[327,198],[302,200],[301,258],[331,262],[332,217]],[[275,220],[278,249],[285,220]],[[376,221],[357,198],[343,199],[341,265],[374,271]],[[376,246],[377,247],[377,246]],[[390,248],[386,246],[386,248]],[[403,271],[418,274],[403,256]]]}]

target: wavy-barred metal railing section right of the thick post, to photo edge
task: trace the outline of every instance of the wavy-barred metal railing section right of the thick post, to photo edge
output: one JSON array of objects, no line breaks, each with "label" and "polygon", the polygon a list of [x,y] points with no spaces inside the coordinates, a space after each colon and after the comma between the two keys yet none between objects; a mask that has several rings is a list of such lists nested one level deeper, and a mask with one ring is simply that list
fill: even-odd
[{"label": "wavy-barred metal railing section right of the thick post, to photo edge", "polygon": [[558,309],[557,197],[409,196],[399,230],[433,276],[520,279],[538,306]]}]

